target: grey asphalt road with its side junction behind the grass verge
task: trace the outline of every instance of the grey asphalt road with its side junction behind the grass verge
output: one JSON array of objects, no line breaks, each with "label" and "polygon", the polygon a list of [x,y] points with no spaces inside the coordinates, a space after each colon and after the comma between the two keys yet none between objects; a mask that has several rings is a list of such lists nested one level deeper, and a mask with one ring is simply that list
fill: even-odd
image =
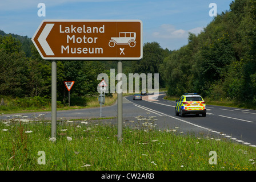
[{"label": "grey asphalt road with its side junction behind the grass verge", "polygon": [[[133,96],[123,97],[123,121],[135,121],[138,115],[156,116],[157,127],[162,130],[177,130],[180,133],[204,134],[215,138],[228,138],[239,143],[256,147],[256,110],[238,109],[234,107],[207,105],[207,115],[196,117],[194,114],[180,117],[175,115],[175,102],[163,100],[165,94],[160,93],[156,100],[133,101]],[[51,120],[51,112],[5,114],[0,119],[21,118]],[[57,119],[99,118],[100,109],[76,109],[57,111]],[[117,117],[117,104],[102,107],[102,117]],[[117,123],[117,118],[102,119],[102,122]]]}]

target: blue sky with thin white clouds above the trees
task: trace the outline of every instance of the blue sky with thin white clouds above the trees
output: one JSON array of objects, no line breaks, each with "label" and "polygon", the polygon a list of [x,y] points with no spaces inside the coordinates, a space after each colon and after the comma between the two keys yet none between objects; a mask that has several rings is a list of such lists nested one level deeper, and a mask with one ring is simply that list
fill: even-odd
[{"label": "blue sky with thin white clouds above the trees", "polygon": [[[232,0],[1,0],[0,30],[31,38],[43,19],[140,19],[143,43],[158,42],[162,48],[179,49],[188,32],[199,34],[217,13],[229,10]],[[39,17],[38,3],[46,16]]]}]

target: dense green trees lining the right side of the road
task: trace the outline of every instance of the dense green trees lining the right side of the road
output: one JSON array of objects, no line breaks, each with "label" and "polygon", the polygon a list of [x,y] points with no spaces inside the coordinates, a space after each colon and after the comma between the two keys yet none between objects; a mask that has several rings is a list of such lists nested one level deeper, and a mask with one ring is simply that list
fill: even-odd
[{"label": "dense green trees lining the right side of the road", "polygon": [[236,0],[160,66],[170,96],[256,103],[256,1]]}]

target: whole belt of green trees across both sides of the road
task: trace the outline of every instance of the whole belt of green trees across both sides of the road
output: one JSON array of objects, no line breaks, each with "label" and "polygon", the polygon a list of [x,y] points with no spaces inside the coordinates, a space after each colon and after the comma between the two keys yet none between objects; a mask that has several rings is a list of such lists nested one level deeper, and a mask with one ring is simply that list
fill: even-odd
[{"label": "whole belt of green trees across both sides of the road", "polygon": [[[159,73],[159,86],[167,88],[169,96],[195,92],[256,103],[255,12],[255,0],[235,0],[201,34],[189,33],[188,44],[178,50],[145,43],[143,59],[123,61],[123,73]],[[0,31],[0,65],[1,95],[51,97],[51,61],[42,59],[27,36]],[[85,105],[83,98],[98,94],[98,74],[110,76],[113,68],[117,73],[117,61],[57,61],[57,100],[67,103],[63,81],[75,81],[70,95]]]}]

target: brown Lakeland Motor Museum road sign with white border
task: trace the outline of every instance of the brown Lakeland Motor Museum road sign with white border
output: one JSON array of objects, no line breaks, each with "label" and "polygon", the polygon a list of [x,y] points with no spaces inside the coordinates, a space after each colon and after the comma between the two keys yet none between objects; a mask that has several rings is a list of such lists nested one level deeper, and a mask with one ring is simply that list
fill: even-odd
[{"label": "brown Lakeland Motor Museum road sign with white border", "polygon": [[43,59],[142,59],[141,20],[43,20],[32,41]]}]

